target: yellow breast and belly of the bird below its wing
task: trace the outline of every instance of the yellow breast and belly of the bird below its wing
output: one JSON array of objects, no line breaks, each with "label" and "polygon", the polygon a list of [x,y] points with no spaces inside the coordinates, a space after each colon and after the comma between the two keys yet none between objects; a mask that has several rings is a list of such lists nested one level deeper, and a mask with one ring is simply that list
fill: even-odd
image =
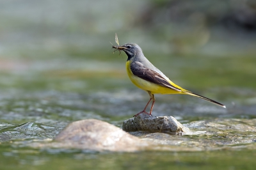
[{"label": "yellow breast and belly of the bird below its wing", "polygon": [[179,91],[175,91],[170,88],[165,88],[163,86],[159,86],[158,84],[154,84],[149,81],[145,81],[144,79],[141,79],[140,77],[134,75],[130,68],[130,61],[126,62],[126,71],[131,79],[132,83],[135,84],[138,88],[150,91],[152,94],[160,93],[160,94],[177,94],[180,93]]}]

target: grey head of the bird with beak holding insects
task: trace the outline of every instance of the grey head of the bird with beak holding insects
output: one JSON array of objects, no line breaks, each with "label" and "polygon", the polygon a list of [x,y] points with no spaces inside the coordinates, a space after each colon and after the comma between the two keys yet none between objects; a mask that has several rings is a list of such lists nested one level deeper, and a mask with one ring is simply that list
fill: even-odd
[{"label": "grey head of the bird with beak holding insects", "polygon": [[125,45],[113,46],[113,48],[116,50],[124,50],[125,54],[128,57],[127,60],[130,60],[131,58],[142,54],[140,46],[136,43],[125,43]]}]

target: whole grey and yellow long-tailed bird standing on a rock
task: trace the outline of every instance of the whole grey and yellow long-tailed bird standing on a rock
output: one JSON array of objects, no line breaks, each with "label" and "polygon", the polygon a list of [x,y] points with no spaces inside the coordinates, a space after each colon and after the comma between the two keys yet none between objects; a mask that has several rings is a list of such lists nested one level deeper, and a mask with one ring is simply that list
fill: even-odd
[{"label": "whole grey and yellow long-tailed bird standing on a rock", "polygon": [[154,103],[156,98],[154,94],[183,94],[183,95],[191,95],[194,97],[202,98],[214,104],[220,105],[221,107],[226,108],[225,105],[220,104],[210,98],[202,97],[200,95],[196,95],[195,93],[188,91],[186,89],[180,88],[174,84],[166,75],[164,75],[156,66],[152,65],[147,58],[145,58],[141,48],[136,43],[126,43],[125,45],[117,45],[113,46],[116,50],[123,50],[125,54],[128,56],[126,61],[126,71],[128,73],[129,78],[138,88],[143,89],[148,92],[150,100],[147,105],[143,109],[143,111],[139,112],[134,116],[138,116],[141,113],[146,113],[146,109],[148,104],[152,100],[151,109],[149,115],[152,116],[152,109],[154,107]]}]

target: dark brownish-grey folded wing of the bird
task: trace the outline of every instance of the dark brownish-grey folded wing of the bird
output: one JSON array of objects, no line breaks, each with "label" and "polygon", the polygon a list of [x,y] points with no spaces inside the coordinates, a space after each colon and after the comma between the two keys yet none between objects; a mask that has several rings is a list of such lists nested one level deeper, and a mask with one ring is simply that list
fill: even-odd
[{"label": "dark brownish-grey folded wing of the bird", "polygon": [[144,79],[145,81],[149,81],[154,84],[173,89],[175,91],[181,91],[179,88],[175,88],[175,86],[172,86],[172,84],[166,81],[166,79],[164,79],[164,77],[161,76],[159,73],[145,68],[145,66],[138,61],[131,64],[131,71],[134,75],[140,77],[141,79]]}]

